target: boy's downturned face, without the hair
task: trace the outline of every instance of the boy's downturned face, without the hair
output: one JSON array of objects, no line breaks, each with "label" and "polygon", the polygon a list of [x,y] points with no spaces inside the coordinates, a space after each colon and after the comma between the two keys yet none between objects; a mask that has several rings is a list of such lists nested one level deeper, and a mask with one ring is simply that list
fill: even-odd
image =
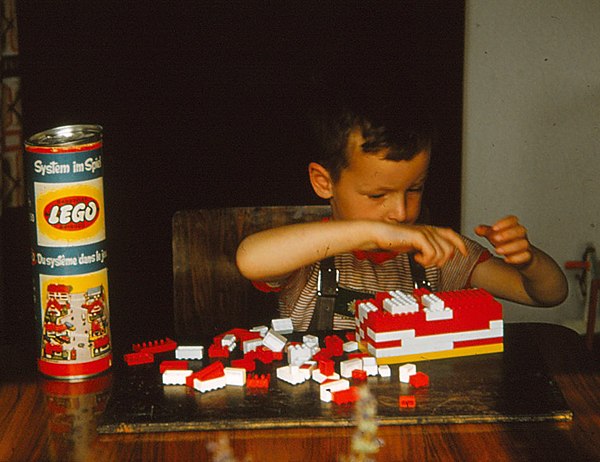
[{"label": "boy's downturned face, without the hair", "polygon": [[414,224],[421,211],[429,152],[422,151],[411,160],[386,160],[384,151],[365,154],[360,144],[361,139],[351,135],[348,167],[337,182],[329,179],[326,193],[315,187],[317,194],[330,199],[338,220]]}]

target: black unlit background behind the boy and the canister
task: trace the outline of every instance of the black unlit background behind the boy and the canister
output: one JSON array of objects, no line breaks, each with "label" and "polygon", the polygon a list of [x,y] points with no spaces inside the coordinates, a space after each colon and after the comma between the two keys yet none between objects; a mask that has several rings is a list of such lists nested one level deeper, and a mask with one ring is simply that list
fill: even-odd
[{"label": "black unlit background behind the boy and the canister", "polygon": [[303,138],[316,83],[429,88],[426,201],[458,229],[463,2],[321,3],[18,2],[25,136],[104,127],[114,334],[170,332],[176,210],[318,203]]}]

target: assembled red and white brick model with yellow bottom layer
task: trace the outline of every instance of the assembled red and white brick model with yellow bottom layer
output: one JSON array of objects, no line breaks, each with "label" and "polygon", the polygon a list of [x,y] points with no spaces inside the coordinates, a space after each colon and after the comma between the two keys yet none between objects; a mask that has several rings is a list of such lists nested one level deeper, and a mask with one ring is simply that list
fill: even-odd
[{"label": "assembled red and white brick model with yellow bottom layer", "polygon": [[503,351],[502,305],[484,289],[380,292],[355,313],[361,349],[378,364]]}]

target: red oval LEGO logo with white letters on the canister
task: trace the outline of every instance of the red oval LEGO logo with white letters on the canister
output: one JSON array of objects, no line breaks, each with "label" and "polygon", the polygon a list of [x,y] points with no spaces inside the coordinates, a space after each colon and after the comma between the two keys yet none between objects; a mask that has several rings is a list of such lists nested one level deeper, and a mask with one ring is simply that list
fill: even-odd
[{"label": "red oval LEGO logo with white letters on the canister", "polygon": [[64,231],[79,231],[89,228],[98,218],[98,202],[87,196],[61,197],[44,208],[48,224]]}]

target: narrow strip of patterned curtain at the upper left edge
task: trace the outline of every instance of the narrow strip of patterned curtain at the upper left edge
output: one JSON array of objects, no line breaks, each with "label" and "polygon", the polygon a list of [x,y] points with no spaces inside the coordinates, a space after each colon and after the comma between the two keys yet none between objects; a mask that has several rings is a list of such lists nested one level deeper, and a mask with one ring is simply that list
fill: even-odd
[{"label": "narrow strip of patterned curtain at the upper left edge", "polygon": [[16,0],[0,0],[0,93],[2,125],[0,132],[0,216],[7,207],[25,203],[23,180],[23,127],[21,123],[21,79]]}]

